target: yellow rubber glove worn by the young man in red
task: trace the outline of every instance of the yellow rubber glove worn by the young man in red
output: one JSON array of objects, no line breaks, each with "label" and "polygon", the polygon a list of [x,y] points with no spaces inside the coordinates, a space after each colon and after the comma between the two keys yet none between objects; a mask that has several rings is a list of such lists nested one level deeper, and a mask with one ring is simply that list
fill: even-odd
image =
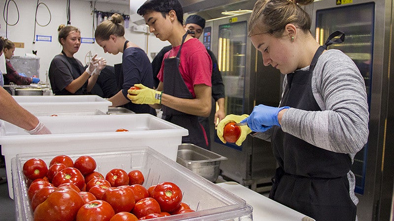
[{"label": "yellow rubber glove worn by the young man in red", "polygon": [[161,104],[162,91],[157,91],[144,86],[142,83],[134,84],[134,86],[141,88],[140,90],[128,90],[127,97],[134,104]]}]

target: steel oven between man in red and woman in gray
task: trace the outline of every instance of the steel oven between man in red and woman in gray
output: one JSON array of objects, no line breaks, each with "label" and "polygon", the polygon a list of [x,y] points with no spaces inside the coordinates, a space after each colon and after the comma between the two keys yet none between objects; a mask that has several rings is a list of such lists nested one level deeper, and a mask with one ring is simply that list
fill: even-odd
[{"label": "steel oven between man in red and woman in gray", "polygon": [[[247,36],[249,17],[250,12],[208,20],[200,39],[218,59],[226,114],[249,114],[256,105],[278,106],[280,101],[281,74],[263,65],[261,53]],[[211,127],[211,151],[228,158],[220,165],[221,175],[252,190],[268,191],[276,168],[270,143],[248,136],[241,146],[223,144]]]}]

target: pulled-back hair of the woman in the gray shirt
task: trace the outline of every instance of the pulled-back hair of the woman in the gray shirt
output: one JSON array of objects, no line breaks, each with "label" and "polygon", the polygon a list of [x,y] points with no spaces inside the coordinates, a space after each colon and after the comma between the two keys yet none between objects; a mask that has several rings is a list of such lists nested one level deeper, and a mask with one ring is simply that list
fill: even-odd
[{"label": "pulled-back hair of the woman in the gray shirt", "polygon": [[268,33],[282,36],[287,24],[293,24],[304,32],[310,32],[311,19],[299,5],[314,0],[257,0],[248,23],[248,36]]}]

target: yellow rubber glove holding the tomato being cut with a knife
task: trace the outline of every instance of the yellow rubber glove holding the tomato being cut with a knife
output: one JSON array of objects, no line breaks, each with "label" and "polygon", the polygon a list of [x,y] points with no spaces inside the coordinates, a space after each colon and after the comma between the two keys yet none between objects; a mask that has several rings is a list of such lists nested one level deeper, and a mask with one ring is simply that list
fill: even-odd
[{"label": "yellow rubber glove holding the tomato being cut with a knife", "polygon": [[[226,124],[228,124],[230,122],[239,123],[248,116],[249,116],[248,114],[243,114],[241,116],[234,115],[234,114],[227,115],[218,124],[218,130],[216,133],[218,134],[219,139],[222,140],[222,142],[226,143],[225,138],[223,138],[223,131],[224,131]],[[242,142],[246,139],[246,136],[252,132],[252,130],[247,125],[239,126],[239,127],[241,128],[241,136],[235,142],[235,144],[238,146],[242,145]]]}]

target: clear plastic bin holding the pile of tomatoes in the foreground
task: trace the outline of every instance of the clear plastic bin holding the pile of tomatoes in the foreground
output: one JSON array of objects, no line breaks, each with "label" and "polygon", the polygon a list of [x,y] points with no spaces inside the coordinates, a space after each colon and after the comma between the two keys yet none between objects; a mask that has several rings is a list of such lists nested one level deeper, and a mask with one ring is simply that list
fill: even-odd
[{"label": "clear plastic bin holding the pile of tomatoes in the foreground", "polygon": [[[83,146],[79,146],[80,149]],[[47,164],[53,157],[66,154],[75,160],[79,156],[92,156],[98,167],[96,171],[105,175],[113,168],[131,171],[140,170],[145,176],[143,186],[150,187],[161,182],[173,182],[183,192],[182,201],[196,212],[174,215],[155,220],[175,221],[251,221],[253,208],[245,200],[226,191],[218,185],[198,176],[189,169],[164,157],[149,147],[122,148],[92,151],[62,151],[52,153],[18,154],[12,159],[12,181],[14,183],[16,218],[20,221],[33,221],[33,213],[27,196],[27,179],[23,175],[24,162],[40,158]]]}]

